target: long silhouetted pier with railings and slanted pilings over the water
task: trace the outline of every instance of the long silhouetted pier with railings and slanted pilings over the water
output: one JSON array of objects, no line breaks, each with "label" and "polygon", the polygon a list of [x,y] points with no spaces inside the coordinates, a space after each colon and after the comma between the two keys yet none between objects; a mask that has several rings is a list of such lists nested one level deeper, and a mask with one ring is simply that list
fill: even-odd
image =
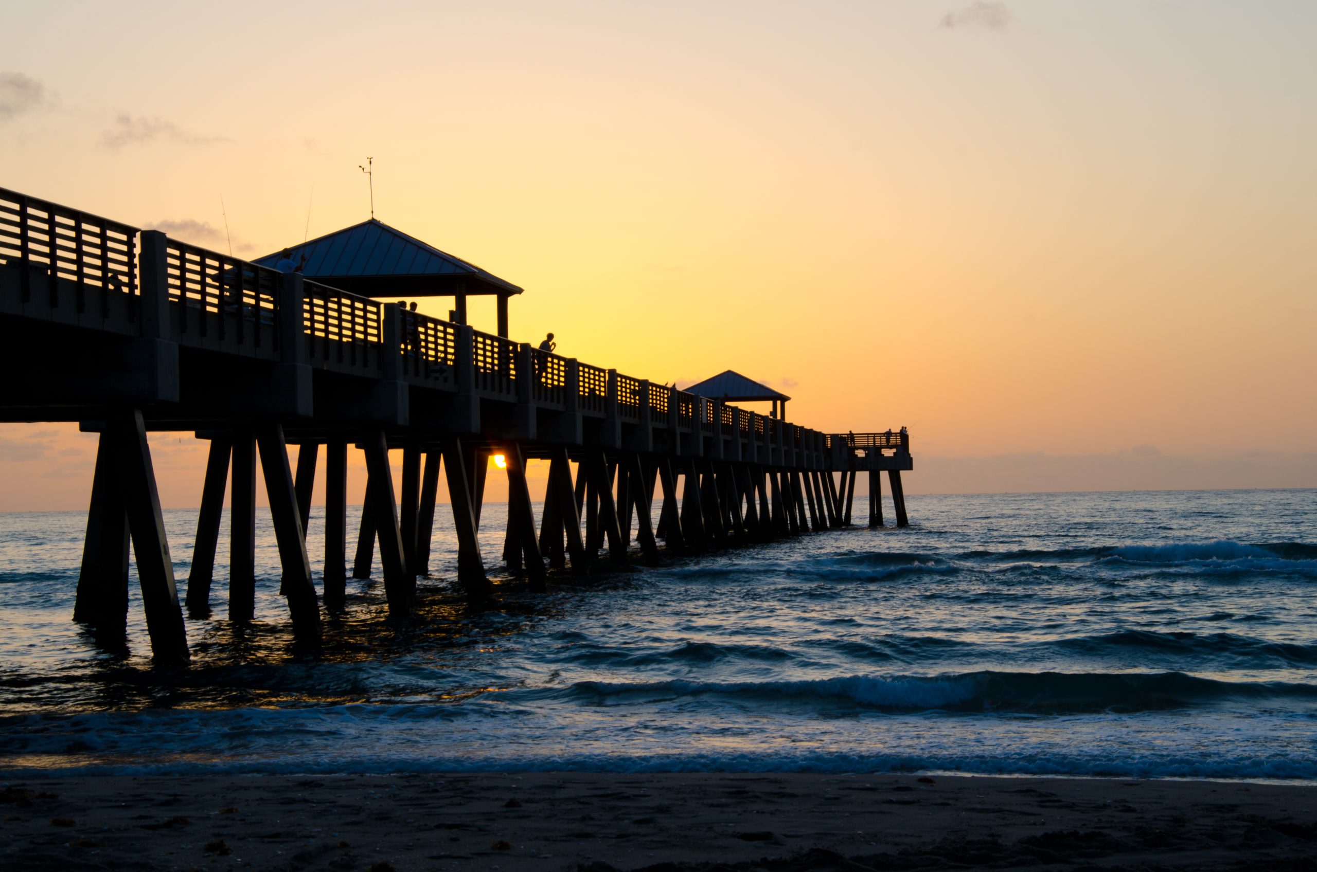
[{"label": "long silhouetted pier with railings and slanted pilings over the water", "polygon": [[[377,224],[358,227],[367,233]],[[373,299],[398,296],[396,278],[336,281],[315,274],[311,261],[307,274],[278,271],[0,188],[0,345],[12,374],[0,389],[0,420],[78,422],[99,433],[74,619],[97,634],[124,632],[132,545],[154,657],[186,663],[182,609],[209,614],[225,490],[228,616],[250,619],[257,456],[282,593],[295,632],[309,643],[321,610],[344,607],[349,573],[370,577],[377,544],[389,610],[408,613],[416,578],[429,574],[441,474],[458,539],[456,578],[474,598],[493,593],[490,556],[477,540],[491,456],[504,458],[507,473],[499,559],[536,591],[551,570],[589,574],[597,560],[656,562],[662,551],[852,526],[861,473],[868,526],[885,523],[882,472],[893,520],[906,526],[901,472],[913,464],[905,431],[824,433],[786,422],[785,399],[761,415],[723,394],[681,391],[516,342],[508,299],[520,288],[450,259],[452,269],[408,279],[415,288],[432,282],[412,298],[454,298],[454,320],[440,320]],[[498,295],[498,335],[465,323],[466,295],[481,292]],[[149,431],[209,440],[186,603]],[[296,469],[290,444],[299,445]],[[402,449],[400,494],[390,449]],[[304,532],[321,450],[325,553],[316,591]],[[349,450],[361,450],[367,468],[357,531],[346,527]],[[532,458],[549,462],[540,512],[525,477]]]}]

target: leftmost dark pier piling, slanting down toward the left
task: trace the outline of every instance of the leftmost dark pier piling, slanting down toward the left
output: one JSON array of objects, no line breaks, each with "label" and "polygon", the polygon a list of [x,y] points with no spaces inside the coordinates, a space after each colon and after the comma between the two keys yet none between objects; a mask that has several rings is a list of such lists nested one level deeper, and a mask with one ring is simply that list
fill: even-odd
[{"label": "leftmost dark pier piling, slanting down toward the left", "polygon": [[[78,597],[74,602],[74,620],[90,624],[96,634],[107,638],[122,638],[128,630],[128,508],[124,504],[124,489],[119,476],[121,452],[116,448],[115,435],[107,429],[100,435],[96,448],[96,472],[92,474],[91,507],[87,511],[87,537],[83,541],[82,572],[78,573]],[[213,458],[213,444],[211,453]],[[228,464],[229,457],[225,454],[225,473]],[[223,503],[223,479],[220,487]],[[204,519],[204,503],[202,511]],[[217,527],[219,520],[216,520],[216,535],[219,535]],[[213,564],[213,541],[211,552]],[[190,582],[188,593],[191,591]],[[208,574],[205,591],[209,593]]]}]

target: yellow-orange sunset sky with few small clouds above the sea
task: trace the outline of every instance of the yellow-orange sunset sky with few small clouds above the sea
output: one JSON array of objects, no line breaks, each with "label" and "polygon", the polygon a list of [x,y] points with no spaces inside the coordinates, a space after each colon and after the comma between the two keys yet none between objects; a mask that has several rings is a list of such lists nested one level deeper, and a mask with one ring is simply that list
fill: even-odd
[{"label": "yellow-orange sunset sky with few small clouds above the sea", "polygon": [[[366,219],[373,157],[381,220],[525,288],[514,337],[907,425],[909,493],[1317,486],[1317,4],[4,17],[5,187],[258,257]],[[195,506],[204,443],[153,447]],[[94,453],[0,425],[0,510],[86,506]]]}]

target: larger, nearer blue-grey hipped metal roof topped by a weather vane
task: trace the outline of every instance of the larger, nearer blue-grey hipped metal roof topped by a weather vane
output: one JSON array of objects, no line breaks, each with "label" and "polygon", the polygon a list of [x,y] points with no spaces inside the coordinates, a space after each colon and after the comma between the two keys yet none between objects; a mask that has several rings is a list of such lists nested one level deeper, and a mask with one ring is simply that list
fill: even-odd
[{"label": "larger, nearer blue-grey hipped metal roof topped by a weather vane", "polygon": [[[307,256],[303,275],[317,281],[331,281],[345,286],[342,279],[353,285],[363,279],[398,279],[406,283],[411,294],[433,286],[429,292],[452,294],[454,286],[465,294],[520,294],[522,288],[499,277],[486,273],[474,263],[460,257],[440,252],[433,245],[421,242],[383,221],[370,219],[353,227],[328,233],[319,238],[288,246],[294,261]],[[283,249],[258,258],[255,263],[274,267]],[[335,281],[338,279],[338,281]],[[425,279],[432,279],[425,282]],[[391,294],[391,282],[379,283],[379,296]]]}]

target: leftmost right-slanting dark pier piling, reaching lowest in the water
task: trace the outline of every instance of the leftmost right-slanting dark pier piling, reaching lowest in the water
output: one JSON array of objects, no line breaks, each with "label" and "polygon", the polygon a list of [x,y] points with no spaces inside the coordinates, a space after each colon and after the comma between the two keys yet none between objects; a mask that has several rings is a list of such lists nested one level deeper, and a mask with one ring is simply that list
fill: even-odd
[{"label": "leftmost right-slanting dark pier piling, reaching lowest in the water", "polygon": [[161,665],[183,665],[188,661],[187,631],[183,627],[183,610],[178,605],[174,561],[165,535],[155,470],[146,443],[146,424],[142,414],[133,410],[116,416],[109,428],[115,431],[120,487],[128,511],[133,553],[137,557],[137,580],[142,587],[151,653]]}]

